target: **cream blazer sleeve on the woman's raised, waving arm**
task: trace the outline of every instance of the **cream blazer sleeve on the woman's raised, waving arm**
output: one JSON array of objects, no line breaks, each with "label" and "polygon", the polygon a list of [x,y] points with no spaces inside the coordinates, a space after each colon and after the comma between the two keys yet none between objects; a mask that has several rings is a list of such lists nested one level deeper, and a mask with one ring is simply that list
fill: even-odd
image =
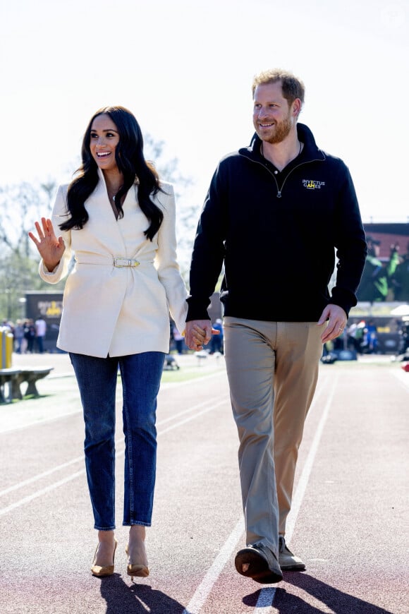
[{"label": "cream blazer sleeve on the woman's raised, waving arm", "polygon": [[44,267],[44,260],[41,259],[39,263],[39,276],[44,279],[44,282],[49,284],[57,284],[61,279],[66,277],[73,255],[71,250],[71,231],[61,231],[59,228],[59,224],[63,224],[70,215],[67,207],[67,189],[68,186],[59,186],[51,214],[54,232],[57,237],[63,237],[66,251],[64,251],[63,257],[53,271],[49,271]]}]

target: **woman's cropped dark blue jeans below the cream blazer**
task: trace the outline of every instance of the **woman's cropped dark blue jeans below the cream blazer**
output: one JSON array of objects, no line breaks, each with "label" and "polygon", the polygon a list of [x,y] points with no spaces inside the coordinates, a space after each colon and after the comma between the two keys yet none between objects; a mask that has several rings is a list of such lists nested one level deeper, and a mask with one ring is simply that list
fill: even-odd
[{"label": "woman's cropped dark blue jeans below the cream blazer", "polygon": [[85,467],[94,528],[115,529],[115,395],[123,388],[125,477],[123,525],[150,526],[156,476],[157,394],[165,354],[157,351],[106,359],[70,354],[85,421]]}]

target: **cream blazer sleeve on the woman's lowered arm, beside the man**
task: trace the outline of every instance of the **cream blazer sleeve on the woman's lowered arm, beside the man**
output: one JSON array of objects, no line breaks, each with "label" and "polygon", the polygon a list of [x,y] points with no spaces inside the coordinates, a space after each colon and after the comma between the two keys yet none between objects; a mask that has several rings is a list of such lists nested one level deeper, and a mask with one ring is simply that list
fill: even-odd
[{"label": "cream blazer sleeve on the woman's lowered arm, beside the man", "polygon": [[176,203],[173,186],[162,186],[165,193],[158,193],[157,201],[164,212],[158,231],[158,249],[154,259],[159,280],[166,291],[169,311],[180,332],[185,331],[188,291],[181,276],[176,256]]}]

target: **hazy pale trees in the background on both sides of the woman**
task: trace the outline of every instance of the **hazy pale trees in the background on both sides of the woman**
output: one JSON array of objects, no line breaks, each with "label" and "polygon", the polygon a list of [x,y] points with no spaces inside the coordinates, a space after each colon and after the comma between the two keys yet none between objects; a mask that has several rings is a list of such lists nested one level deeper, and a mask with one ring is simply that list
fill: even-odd
[{"label": "hazy pale trees in the background on both sides of the woman", "polygon": [[[192,183],[178,171],[178,159],[164,157],[164,142],[145,136],[145,157],[154,162],[159,176],[173,183],[176,193],[178,257],[181,272],[188,282],[190,252],[200,205],[179,204],[183,191]],[[78,168],[80,161],[73,165]],[[68,179],[69,181],[69,179]],[[34,223],[51,215],[57,182],[0,186],[0,318],[15,322],[25,318],[25,293],[28,291],[62,291],[65,280],[50,286],[38,275],[39,255],[28,236]]]}]

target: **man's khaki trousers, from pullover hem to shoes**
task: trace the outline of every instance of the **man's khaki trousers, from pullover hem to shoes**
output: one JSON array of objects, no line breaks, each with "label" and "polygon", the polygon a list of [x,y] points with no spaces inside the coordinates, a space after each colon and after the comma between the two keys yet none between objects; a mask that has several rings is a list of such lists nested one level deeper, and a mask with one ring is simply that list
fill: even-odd
[{"label": "man's khaki trousers, from pullover hem to shoes", "polygon": [[277,555],[298,448],[317,385],[326,324],[224,318],[224,354],[238,428],[246,542]]}]

